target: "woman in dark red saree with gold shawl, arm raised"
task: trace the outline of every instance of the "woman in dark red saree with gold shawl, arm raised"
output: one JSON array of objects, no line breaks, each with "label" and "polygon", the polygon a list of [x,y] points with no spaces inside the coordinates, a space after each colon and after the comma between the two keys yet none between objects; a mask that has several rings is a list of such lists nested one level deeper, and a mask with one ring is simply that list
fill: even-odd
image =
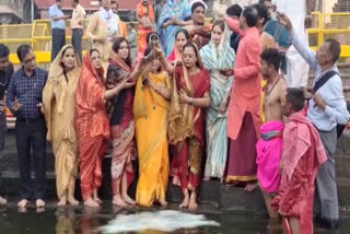
[{"label": "woman in dark red saree with gold shawl, arm raised", "polygon": [[192,43],[184,46],[180,66],[170,65],[161,49],[158,54],[168,73],[174,74],[167,121],[168,140],[176,149],[171,172],[173,183],[184,192],[179,207],[196,210],[205,149],[205,108],[210,105],[210,77]]}]

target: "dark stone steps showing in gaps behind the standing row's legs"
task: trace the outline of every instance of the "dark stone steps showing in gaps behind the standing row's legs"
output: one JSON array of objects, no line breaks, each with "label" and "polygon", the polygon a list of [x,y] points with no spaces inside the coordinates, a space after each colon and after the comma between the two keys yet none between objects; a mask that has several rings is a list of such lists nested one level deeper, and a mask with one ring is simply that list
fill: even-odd
[{"label": "dark stone steps showing in gaps behind the standing row's legs", "polygon": [[[55,159],[50,145],[47,148],[47,199],[56,199],[55,186]],[[135,165],[138,168],[137,165]],[[15,200],[19,195],[19,169],[15,150],[14,132],[9,131],[7,134],[7,145],[4,155],[0,161],[0,172],[2,172],[2,191],[10,198]],[[110,155],[104,159],[103,164],[103,186],[101,188],[101,197],[104,200],[112,199],[110,190]],[[138,172],[136,172],[138,174]],[[350,132],[345,132],[339,140],[337,147],[337,175],[339,204],[342,208],[350,208]],[[33,175],[34,176],[34,175]],[[137,180],[137,179],[135,179]],[[136,183],[130,188],[130,194],[135,196]],[[77,198],[81,200],[79,180],[77,180]],[[171,202],[179,202],[182,200],[180,189],[170,183],[167,191],[167,200]],[[241,187],[228,187],[219,180],[202,182],[200,188],[200,202],[222,210],[234,211],[258,211],[265,212],[265,204],[261,194],[258,189],[253,192],[246,192]]]}]

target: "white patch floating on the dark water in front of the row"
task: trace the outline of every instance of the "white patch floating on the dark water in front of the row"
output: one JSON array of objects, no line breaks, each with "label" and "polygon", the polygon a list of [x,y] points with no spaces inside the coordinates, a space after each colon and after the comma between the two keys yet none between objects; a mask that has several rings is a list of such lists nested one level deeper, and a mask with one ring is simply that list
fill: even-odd
[{"label": "white patch floating on the dark water in front of the row", "polygon": [[104,234],[156,230],[174,232],[179,229],[198,226],[220,226],[218,222],[208,221],[202,214],[190,214],[175,210],[119,214],[106,225],[98,229]]}]

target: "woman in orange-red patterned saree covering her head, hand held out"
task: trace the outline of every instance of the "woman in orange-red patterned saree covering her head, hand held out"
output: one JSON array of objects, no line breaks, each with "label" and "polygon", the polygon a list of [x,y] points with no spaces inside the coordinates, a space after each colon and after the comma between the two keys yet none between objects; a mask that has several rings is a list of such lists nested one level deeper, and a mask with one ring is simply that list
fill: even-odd
[{"label": "woman in orange-red patterned saree covering her head, hand held out", "polygon": [[102,184],[102,160],[109,138],[105,101],[119,93],[119,86],[106,91],[104,70],[96,49],[90,50],[77,90],[75,130],[80,151],[81,192],[84,204],[100,207],[97,188]]}]

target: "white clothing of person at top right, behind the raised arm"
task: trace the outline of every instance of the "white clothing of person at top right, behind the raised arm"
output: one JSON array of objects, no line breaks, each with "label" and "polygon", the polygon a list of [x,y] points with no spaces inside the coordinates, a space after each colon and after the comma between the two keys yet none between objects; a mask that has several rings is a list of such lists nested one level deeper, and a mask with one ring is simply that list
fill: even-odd
[{"label": "white clothing of person at top right, behind the raised arm", "polygon": [[[294,31],[300,38],[305,39],[308,45],[308,37],[305,30],[306,17],[306,0],[277,0],[277,10],[287,14],[293,24]],[[287,75],[285,82],[290,87],[307,86],[308,66],[300,56],[294,46],[291,46],[287,51]]]}]

